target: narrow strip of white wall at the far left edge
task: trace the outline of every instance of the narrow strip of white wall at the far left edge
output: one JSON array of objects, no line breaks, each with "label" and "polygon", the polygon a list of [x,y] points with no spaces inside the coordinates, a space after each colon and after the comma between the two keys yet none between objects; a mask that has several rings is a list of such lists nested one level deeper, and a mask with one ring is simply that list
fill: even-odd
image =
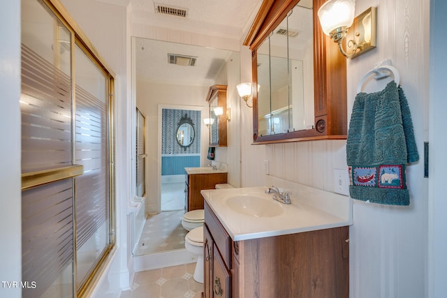
[{"label": "narrow strip of white wall at the far left edge", "polygon": [[20,1],[1,4],[0,36],[0,296],[22,297],[20,288],[3,285],[22,280]]}]

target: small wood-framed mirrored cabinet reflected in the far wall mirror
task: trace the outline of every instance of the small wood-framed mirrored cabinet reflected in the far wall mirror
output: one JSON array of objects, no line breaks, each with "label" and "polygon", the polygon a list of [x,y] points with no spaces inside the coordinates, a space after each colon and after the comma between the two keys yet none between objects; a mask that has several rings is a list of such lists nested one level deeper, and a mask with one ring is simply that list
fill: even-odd
[{"label": "small wood-framed mirrored cabinet reflected in the far wall mirror", "polygon": [[218,117],[215,109],[221,107],[223,115],[226,115],[226,85],[213,85],[208,90],[207,102],[210,107],[210,118],[214,121],[210,126],[210,146],[225,147],[226,142],[226,120]]}]

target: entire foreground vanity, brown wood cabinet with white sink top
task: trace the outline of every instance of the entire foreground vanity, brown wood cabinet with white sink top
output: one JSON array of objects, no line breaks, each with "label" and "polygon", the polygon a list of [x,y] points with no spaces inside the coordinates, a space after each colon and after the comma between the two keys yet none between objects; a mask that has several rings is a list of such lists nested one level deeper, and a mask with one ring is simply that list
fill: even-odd
[{"label": "entire foreground vanity, brown wood cabinet with white sink top", "polygon": [[348,298],[351,199],[334,214],[265,189],[202,191],[204,297]]}]

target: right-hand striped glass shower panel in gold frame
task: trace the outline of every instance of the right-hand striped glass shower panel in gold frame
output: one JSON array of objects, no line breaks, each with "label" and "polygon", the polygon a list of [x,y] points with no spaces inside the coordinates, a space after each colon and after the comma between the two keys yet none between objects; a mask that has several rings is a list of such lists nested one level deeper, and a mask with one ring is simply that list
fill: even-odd
[{"label": "right-hand striped glass shower panel in gold frame", "polygon": [[111,243],[108,151],[108,78],[75,47],[75,156],[84,174],[75,179],[76,277],[86,281]]}]

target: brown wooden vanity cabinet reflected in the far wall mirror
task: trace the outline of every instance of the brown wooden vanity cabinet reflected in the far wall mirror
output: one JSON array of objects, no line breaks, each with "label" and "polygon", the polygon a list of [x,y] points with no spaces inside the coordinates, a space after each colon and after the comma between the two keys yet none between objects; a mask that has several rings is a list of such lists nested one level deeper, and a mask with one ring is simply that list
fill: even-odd
[{"label": "brown wooden vanity cabinet reflected in the far wall mirror", "polygon": [[203,189],[214,189],[216,184],[227,183],[228,173],[200,173],[188,174],[185,172],[185,207],[186,211],[203,209]]}]

